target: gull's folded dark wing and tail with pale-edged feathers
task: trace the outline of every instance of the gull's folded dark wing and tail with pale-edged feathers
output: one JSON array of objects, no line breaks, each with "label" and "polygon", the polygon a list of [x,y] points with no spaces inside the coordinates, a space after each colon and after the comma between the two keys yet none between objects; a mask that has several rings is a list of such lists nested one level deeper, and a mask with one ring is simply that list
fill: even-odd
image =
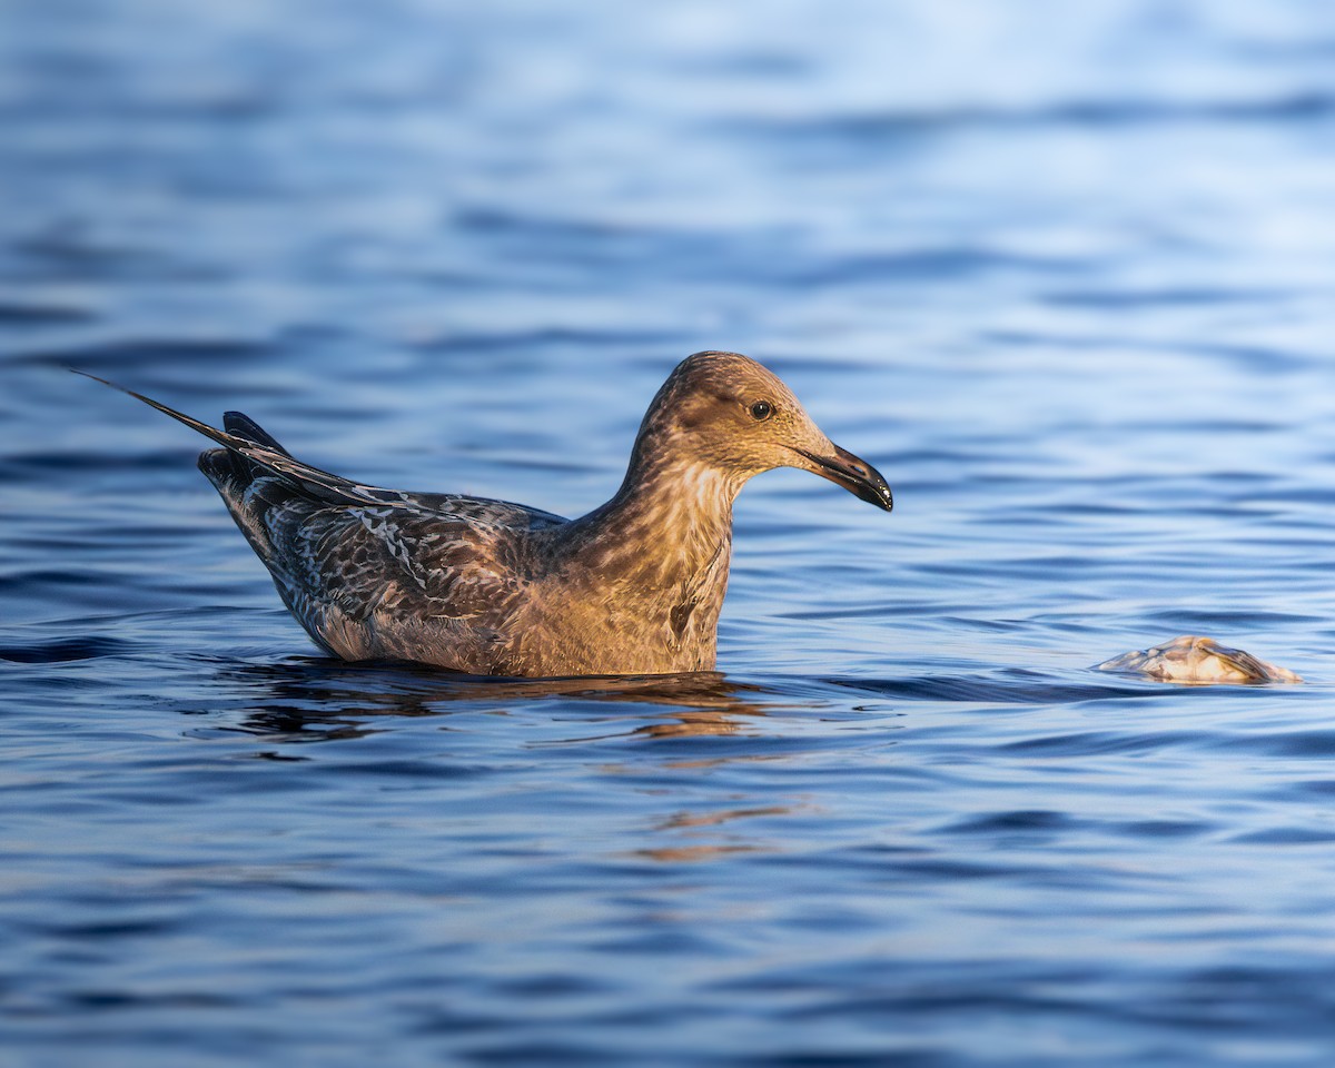
[{"label": "gull's folded dark wing and tail with pale-edged feathers", "polygon": [[461,666],[486,668],[482,650],[503,639],[498,621],[526,581],[517,545],[529,531],[566,522],[506,501],[352,482],[302,463],[242,413],[226,413],[227,429],[219,430],[115,382],[76,374],[222,446],[200,455],[200,469],[287,606],[320,645],[350,659],[402,653],[434,641],[439,627]]}]

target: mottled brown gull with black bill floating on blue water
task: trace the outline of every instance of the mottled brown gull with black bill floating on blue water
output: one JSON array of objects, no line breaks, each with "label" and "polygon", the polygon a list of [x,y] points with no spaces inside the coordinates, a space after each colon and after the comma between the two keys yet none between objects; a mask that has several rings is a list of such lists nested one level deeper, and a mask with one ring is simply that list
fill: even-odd
[{"label": "mottled brown gull with black bill floating on blue water", "polygon": [[621,489],[578,519],[364,486],[302,463],[240,413],[218,430],[124,392],[223,446],[200,454],[200,470],[283,603],[348,661],[527,677],[712,670],[733,501],[752,475],[800,467],[886,511],[893,503],[874,467],[736,352],[677,366]]}]

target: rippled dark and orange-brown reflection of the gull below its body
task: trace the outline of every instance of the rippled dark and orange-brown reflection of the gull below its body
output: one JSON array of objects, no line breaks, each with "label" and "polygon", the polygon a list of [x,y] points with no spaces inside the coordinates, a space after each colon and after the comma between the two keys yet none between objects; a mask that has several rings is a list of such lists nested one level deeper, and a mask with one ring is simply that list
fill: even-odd
[{"label": "rippled dark and orange-brown reflection of the gull below its body", "polygon": [[[669,772],[700,782],[714,766],[781,760],[766,746],[761,725],[772,712],[809,708],[810,701],[777,689],[728,680],[717,672],[676,676],[593,677],[555,680],[481,678],[447,674],[413,665],[347,663],[319,657],[294,657],[282,662],[230,662],[218,669],[218,681],[238,700],[239,716],[228,716],[214,730],[243,733],[279,745],[251,756],[275,761],[304,761],[302,744],[348,741],[392,732],[395,717],[449,717],[461,713],[529,716],[515,733],[515,749],[559,752],[562,746],[635,740],[672,741],[708,736],[752,738],[726,752],[669,746],[650,761],[651,773]],[[535,709],[545,736],[534,738]],[[570,713],[577,713],[571,720]],[[551,726],[557,734],[546,733]],[[501,724],[503,730],[507,725]],[[518,725],[517,725],[518,726]],[[574,736],[570,728],[575,728]],[[595,728],[590,730],[590,726]],[[611,728],[611,729],[609,729]],[[479,728],[486,729],[486,728]],[[758,746],[758,748],[757,748]],[[637,784],[646,765],[622,750],[625,758],[599,754],[590,773],[599,781],[623,781],[634,793],[634,806],[643,812],[643,840],[614,852],[651,864],[700,864],[737,853],[781,849],[781,837],[761,830],[768,821],[792,817],[808,809],[798,798],[738,794],[736,782],[724,793],[692,789],[646,792]],[[643,752],[643,750],[641,750]],[[663,758],[666,757],[666,758]],[[661,794],[661,797],[659,797]],[[650,798],[657,801],[650,801]],[[786,802],[786,804],[785,804]]]}]

